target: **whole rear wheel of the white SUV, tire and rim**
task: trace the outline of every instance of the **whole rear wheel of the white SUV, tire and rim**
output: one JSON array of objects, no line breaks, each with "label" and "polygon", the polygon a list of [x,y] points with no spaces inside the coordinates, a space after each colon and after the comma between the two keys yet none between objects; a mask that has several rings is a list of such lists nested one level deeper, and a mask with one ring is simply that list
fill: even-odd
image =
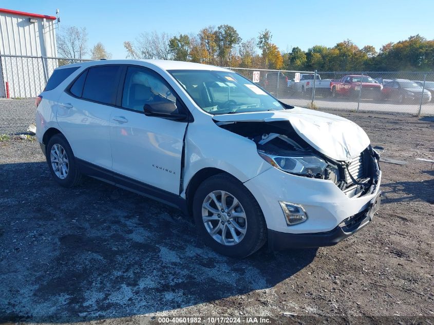
[{"label": "whole rear wheel of the white SUV, tire and rim", "polygon": [[[71,146],[63,135],[58,133],[52,136],[48,141],[46,152],[48,168],[59,185],[73,187],[80,184],[82,174],[77,166]],[[59,156],[62,158],[61,164],[57,163]],[[64,168],[54,167],[59,165],[63,165]]]}]

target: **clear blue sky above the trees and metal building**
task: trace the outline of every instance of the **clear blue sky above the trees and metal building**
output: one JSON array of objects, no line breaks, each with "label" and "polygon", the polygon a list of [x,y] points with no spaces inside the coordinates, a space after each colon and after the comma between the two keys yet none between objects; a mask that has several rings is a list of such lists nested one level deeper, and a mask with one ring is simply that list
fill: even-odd
[{"label": "clear blue sky above the trees and metal building", "polygon": [[2,0],[0,7],[47,15],[59,9],[61,27],[86,27],[89,48],[102,42],[113,59],[124,59],[123,42],[142,32],[197,33],[221,24],[234,26],[243,40],[267,28],[281,51],[346,39],[377,50],[410,35],[434,39],[432,0]]}]

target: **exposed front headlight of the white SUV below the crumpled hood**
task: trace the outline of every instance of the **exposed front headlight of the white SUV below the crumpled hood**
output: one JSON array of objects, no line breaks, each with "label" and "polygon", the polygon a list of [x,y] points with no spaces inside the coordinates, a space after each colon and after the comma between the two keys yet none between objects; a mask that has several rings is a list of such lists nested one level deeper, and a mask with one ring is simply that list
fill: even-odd
[{"label": "exposed front headlight of the white SUV below the crumpled hood", "polygon": [[318,174],[322,176],[327,167],[327,163],[323,159],[312,154],[294,153],[293,156],[283,157],[259,150],[258,154],[273,167],[300,176],[316,177]]}]

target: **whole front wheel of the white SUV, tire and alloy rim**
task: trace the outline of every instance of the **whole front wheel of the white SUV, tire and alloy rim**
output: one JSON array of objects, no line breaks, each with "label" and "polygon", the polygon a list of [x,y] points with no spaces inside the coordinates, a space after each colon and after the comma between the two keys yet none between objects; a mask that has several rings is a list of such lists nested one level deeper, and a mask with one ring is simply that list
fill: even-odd
[{"label": "whole front wheel of the white SUV, tire and alloy rim", "polygon": [[[227,211],[223,213],[216,208],[222,207],[222,192],[225,193],[224,209]],[[210,196],[213,193],[219,205]],[[229,205],[233,205],[234,200],[230,196],[238,201],[231,210]],[[214,212],[205,208],[205,205]],[[244,217],[234,218],[230,213]],[[267,225],[258,202],[240,181],[227,174],[212,176],[199,185],[193,199],[193,217],[205,244],[222,255],[244,258],[255,253],[267,241]],[[209,221],[205,222],[203,218]],[[235,232],[235,237],[240,238],[238,242],[230,227]],[[223,228],[226,228],[224,239]],[[239,232],[238,228],[242,228],[244,234]],[[214,237],[211,234],[213,230],[218,230]]]}]

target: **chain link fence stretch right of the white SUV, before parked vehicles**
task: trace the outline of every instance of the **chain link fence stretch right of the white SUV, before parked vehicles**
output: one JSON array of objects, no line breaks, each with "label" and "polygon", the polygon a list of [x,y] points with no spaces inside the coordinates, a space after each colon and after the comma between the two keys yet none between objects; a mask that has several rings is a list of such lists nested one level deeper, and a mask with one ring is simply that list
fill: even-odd
[{"label": "chain link fence stretch right of the white SUV, before parked vehicles", "polygon": [[434,115],[434,72],[229,69],[294,106]]}]

